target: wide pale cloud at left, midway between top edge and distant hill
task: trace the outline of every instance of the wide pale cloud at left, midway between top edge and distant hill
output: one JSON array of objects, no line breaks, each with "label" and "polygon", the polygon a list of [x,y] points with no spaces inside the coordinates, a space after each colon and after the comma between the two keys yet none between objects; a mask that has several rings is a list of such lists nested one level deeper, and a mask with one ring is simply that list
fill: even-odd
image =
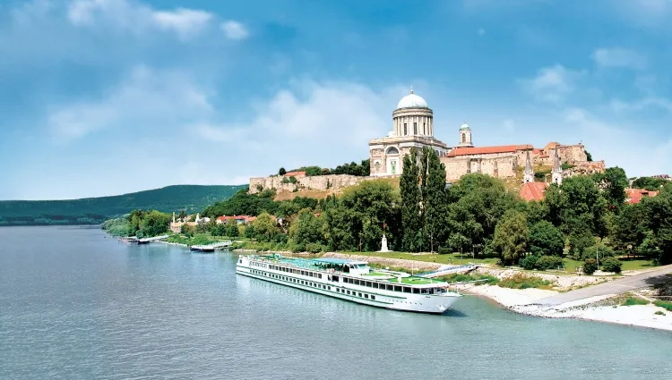
[{"label": "wide pale cloud at left, midway between top edge and distant hill", "polygon": [[67,142],[109,128],[138,131],[179,126],[211,113],[205,93],[184,74],[139,66],[107,97],[55,106],[47,120],[56,140]]}]

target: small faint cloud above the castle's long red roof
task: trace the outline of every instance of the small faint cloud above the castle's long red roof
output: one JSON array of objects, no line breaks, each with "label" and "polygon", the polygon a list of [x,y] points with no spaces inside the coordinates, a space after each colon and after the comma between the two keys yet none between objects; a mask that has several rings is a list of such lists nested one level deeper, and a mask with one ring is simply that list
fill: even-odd
[{"label": "small faint cloud above the castle's long red roof", "polygon": [[544,67],[537,76],[528,80],[519,80],[521,88],[539,101],[553,104],[564,102],[564,98],[576,89],[576,83],[585,72],[566,69],[562,64]]}]

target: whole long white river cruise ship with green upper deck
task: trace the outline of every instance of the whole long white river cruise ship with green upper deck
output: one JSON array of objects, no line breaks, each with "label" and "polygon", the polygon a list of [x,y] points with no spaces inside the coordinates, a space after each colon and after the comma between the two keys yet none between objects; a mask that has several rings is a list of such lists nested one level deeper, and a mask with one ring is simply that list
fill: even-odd
[{"label": "whole long white river cruise ship with green upper deck", "polygon": [[462,295],[448,283],[342,258],[240,256],[236,273],[340,300],[394,310],[441,314]]}]

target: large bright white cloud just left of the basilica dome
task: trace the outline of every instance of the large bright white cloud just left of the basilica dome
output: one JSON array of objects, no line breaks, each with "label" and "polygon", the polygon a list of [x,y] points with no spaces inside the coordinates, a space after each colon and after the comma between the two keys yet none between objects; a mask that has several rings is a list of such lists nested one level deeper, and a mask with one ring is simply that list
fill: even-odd
[{"label": "large bright white cloud just left of the basilica dome", "polygon": [[254,106],[245,122],[200,124],[194,131],[209,141],[240,141],[241,153],[256,157],[248,167],[256,174],[278,165],[338,165],[366,158],[368,139],[390,130],[390,107],[406,92],[299,81]]}]

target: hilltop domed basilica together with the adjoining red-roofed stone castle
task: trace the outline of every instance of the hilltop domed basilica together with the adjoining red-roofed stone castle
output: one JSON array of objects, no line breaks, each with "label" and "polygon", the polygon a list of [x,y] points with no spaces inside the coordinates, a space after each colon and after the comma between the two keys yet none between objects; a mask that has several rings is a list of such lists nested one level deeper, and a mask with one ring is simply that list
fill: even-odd
[{"label": "hilltop domed basilica together with the adjoining red-roofed stone castle", "polygon": [[[457,143],[451,147],[435,139],[434,128],[432,109],[427,106],[425,99],[411,89],[410,94],[402,97],[392,112],[392,131],[386,137],[369,141],[371,175],[400,175],[403,156],[409,154],[413,147],[435,150],[445,166],[447,182],[457,181],[466,173],[513,178],[522,165],[552,165],[555,176],[559,173],[558,167],[563,164],[581,167],[583,171],[592,173],[604,171],[604,162],[589,162],[582,144],[561,145],[550,142],[544,148],[534,148],[530,144],[476,147],[471,140],[470,126],[464,123],[457,131]],[[549,176],[548,180],[552,179],[556,181],[556,177]],[[528,181],[529,176],[526,176]]]}]

